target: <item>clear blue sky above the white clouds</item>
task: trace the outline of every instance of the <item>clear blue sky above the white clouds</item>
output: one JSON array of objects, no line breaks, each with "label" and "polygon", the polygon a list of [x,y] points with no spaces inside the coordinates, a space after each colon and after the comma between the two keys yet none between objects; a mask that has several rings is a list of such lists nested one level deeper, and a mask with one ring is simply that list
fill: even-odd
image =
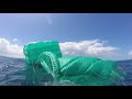
[{"label": "clear blue sky above the white clouds", "polygon": [[0,38],[20,46],[35,41],[100,40],[107,42],[105,46],[119,48],[116,51],[118,55],[111,58],[128,59],[128,53],[132,51],[132,14],[0,13]]}]

